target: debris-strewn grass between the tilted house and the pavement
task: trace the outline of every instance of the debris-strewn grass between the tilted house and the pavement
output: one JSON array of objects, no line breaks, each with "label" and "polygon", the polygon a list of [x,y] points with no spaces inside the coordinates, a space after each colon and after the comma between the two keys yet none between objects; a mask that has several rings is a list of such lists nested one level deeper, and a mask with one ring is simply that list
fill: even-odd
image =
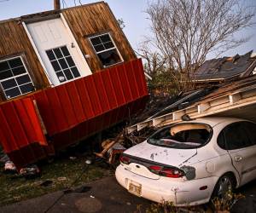
[{"label": "debris-strewn grass between the tilted house and the pavement", "polygon": [[[79,175],[84,166],[85,158],[56,159],[51,164],[39,166],[42,171],[41,177],[26,180],[24,177],[4,174],[3,164],[0,164],[0,205],[12,204],[25,199],[32,199],[45,193],[52,193],[70,187]],[[83,183],[96,181],[104,176],[110,176],[111,170],[104,164],[90,164],[75,186]],[[40,184],[46,180],[53,181],[49,186],[43,187]]]}]

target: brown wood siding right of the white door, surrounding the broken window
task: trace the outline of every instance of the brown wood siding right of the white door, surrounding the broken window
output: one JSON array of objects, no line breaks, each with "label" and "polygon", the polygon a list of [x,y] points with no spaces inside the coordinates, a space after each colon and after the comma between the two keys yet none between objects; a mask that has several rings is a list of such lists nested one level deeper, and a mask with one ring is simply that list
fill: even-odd
[{"label": "brown wood siding right of the white door, surrounding the broken window", "polygon": [[136,55],[109,9],[108,3],[92,3],[65,9],[62,14],[83,54],[90,55],[90,58],[86,60],[92,72],[103,68],[88,38],[92,35],[109,32],[123,59],[125,61],[136,59]]}]

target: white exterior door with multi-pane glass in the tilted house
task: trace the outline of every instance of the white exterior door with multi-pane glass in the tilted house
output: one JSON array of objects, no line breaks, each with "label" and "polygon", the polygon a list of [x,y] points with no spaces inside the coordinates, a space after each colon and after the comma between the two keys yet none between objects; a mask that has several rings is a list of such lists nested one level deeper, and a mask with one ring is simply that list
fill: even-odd
[{"label": "white exterior door with multi-pane glass in the tilted house", "polygon": [[54,85],[91,74],[61,18],[28,24],[27,29]]}]

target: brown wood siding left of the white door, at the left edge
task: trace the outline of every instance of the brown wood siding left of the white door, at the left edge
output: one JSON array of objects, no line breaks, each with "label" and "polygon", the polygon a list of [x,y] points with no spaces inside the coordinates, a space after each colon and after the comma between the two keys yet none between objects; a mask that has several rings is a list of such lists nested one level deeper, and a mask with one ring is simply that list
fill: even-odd
[{"label": "brown wood siding left of the white door, at the left edge", "polygon": [[[0,60],[21,55],[36,89],[49,86],[38,56],[36,55],[26,31],[20,21],[7,20],[0,23]],[[4,100],[3,91],[0,91]]]}]

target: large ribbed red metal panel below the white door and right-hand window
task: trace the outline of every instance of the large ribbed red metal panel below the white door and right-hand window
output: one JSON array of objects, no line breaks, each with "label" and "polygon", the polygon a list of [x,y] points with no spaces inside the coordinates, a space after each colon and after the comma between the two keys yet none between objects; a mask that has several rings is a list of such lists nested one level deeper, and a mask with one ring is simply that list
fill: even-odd
[{"label": "large ribbed red metal panel below the white door and right-hand window", "polygon": [[[145,79],[142,78],[143,66],[139,66],[141,63],[141,60],[132,60],[35,94],[34,99],[48,134],[59,134],[148,95]],[[138,94],[137,90],[141,93]]]}]

